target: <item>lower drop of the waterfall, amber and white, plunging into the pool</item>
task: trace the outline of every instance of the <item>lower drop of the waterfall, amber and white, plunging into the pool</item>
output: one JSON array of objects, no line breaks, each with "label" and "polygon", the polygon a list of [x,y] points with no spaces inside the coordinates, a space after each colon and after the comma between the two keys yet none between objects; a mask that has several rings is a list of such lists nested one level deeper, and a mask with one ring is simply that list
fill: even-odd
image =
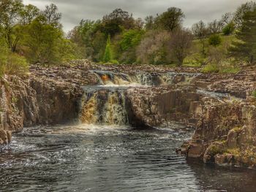
[{"label": "lower drop of the waterfall, amber and white, plunging into the pool", "polygon": [[84,88],[84,91],[80,110],[81,123],[127,124],[124,90],[95,87]]}]

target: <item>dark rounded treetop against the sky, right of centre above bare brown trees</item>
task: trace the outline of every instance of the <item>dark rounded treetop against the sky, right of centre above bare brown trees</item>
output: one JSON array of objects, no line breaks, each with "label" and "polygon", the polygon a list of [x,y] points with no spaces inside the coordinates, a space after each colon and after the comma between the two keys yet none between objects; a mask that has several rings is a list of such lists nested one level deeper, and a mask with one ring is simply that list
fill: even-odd
[{"label": "dark rounded treetop against the sky, right of centre above bare brown trees", "polygon": [[158,26],[164,28],[167,31],[173,31],[174,29],[181,26],[183,19],[185,18],[184,13],[181,9],[176,7],[170,7],[162,15],[156,18]]}]

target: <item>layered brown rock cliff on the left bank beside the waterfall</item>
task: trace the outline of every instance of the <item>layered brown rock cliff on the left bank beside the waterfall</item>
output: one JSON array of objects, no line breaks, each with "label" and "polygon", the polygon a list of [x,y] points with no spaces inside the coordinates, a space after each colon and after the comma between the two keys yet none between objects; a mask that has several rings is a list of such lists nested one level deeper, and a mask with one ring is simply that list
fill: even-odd
[{"label": "layered brown rock cliff on the left bank beside the waterfall", "polygon": [[66,123],[78,118],[83,89],[80,83],[94,83],[89,64],[80,69],[31,67],[29,77],[3,77],[0,82],[0,144],[11,141],[12,132],[23,126]]}]

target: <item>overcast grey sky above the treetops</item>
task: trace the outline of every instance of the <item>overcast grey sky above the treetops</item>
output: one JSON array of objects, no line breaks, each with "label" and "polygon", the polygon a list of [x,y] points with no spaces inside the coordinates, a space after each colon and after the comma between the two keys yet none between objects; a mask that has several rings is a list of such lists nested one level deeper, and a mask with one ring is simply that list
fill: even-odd
[{"label": "overcast grey sky above the treetops", "polygon": [[168,7],[179,7],[186,15],[184,26],[191,26],[198,20],[209,22],[220,18],[225,12],[233,12],[240,4],[248,0],[23,0],[24,4],[34,4],[43,9],[46,4],[56,4],[62,12],[61,22],[64,31],[69,31],[81,19],[101,19],[121,8],[133,13],[135,18],[157,15]]}]

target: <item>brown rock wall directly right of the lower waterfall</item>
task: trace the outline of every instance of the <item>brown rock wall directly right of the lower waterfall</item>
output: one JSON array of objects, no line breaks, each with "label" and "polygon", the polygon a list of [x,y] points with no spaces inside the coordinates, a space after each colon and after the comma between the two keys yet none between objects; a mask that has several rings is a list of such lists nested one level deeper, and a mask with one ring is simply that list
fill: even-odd
[{"label": "brown rock wall directly right of the lower waterfall", "polygon": [[127,97],[132,126],[167,126],[172,121],[195,125],[200,113],[200,95],[191,86],[132,88]]}]

